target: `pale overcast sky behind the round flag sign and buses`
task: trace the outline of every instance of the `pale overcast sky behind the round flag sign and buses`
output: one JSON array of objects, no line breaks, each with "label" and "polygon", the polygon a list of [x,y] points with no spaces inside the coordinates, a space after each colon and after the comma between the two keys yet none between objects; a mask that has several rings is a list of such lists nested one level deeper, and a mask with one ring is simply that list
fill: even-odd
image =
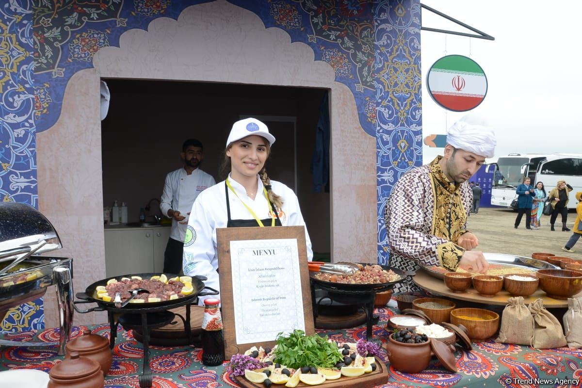
[{"label": "pale overcast sky behind the round flag sign and buses", "polygon": [[[495,156],[510,152],[582,152],[582,50],[580,25],[574,17],[582,14],[582,2],[423,3],[495,37],[487,41],[421,32],[423,138],[445,134],[456,120],[474,112],[487,118],[495,129]],[[422,16],[424,27],[467,31],[428,10],[423,9]],[[426,75],[431,65],[451,54],[469,56],[487,76],[487,96],[473,111],[446,111],[427,91]],[[424,163],[441,151],[424,145]]]}]

